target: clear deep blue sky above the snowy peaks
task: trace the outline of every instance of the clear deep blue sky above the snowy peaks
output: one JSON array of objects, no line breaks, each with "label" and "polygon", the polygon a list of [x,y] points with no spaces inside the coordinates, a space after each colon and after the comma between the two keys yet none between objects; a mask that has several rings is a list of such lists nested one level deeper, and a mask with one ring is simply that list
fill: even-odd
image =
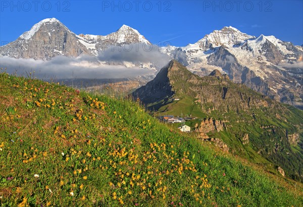
[{"label": "clear deep blue sky above the snowy peaks", "polygon": [[4,1],[0,42],[16,40],[45,18],[55,17],[76,34],[107,35],[123,24],[150,42],[185,46],[213,30],[233,26],[259,36],[303,44],[303,1]]}]

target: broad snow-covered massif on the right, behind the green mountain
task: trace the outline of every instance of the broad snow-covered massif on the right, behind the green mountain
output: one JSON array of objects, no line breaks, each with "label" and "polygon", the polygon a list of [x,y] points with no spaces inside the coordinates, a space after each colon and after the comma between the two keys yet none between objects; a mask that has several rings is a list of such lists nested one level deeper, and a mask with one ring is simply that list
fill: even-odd
[{"label": "broad snow-covered massif on the right, behind the green mountain", "polygon": [[274,36],[256,38],[233,27],[224,27],[194,44],[168,46],[162,52],[200,77],[217,69],[235,83],[303,109],[302,46]]}]

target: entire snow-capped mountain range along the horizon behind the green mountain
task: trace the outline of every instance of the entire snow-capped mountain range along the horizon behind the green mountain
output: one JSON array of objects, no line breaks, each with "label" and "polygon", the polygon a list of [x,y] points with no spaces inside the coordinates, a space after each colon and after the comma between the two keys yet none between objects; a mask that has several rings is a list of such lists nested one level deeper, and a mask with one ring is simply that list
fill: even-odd
[{"label": "entire snow-capped mountain range along the horizon behind the green mountain", "polygon": [[[137,30],[126,25],[105,36],[76,35],[60,21],[52,18],[40,21],[16,41],[2,46],[0,55],[43,60],[58,55],[72,57],[89,55],[102,57],[99,58],[100,64],[150,68],[156,73],[163,66],[157,62],[159,54],[156,57],[149,55],[149,59],[137,54],[135,60],[129,58],[130,60],[123,59],[123,61],[119,61],[118,58],[125,55],[117,59],[113,58],[114,60],[109,60],[108,56],[104,55],[111,47],[123,47],[129,44],[151,45]],[[154,46],[157,48],[156,45]],[[168,45],[156,50],[155,52],[163,55],[161,57],[165,61],[176,59],[200,77],[217,69],[227,74],[235,83],[243,83],[272,99],[303,109],[302,46],[295,46],[274,36],[260,35],[257,38],[233,27],[224,27],[213,31],[194,44],[185,47]],[[122,52],[127,51],[124,48]],[[139,50],[137,53],[140,52],[142,51]]]}]

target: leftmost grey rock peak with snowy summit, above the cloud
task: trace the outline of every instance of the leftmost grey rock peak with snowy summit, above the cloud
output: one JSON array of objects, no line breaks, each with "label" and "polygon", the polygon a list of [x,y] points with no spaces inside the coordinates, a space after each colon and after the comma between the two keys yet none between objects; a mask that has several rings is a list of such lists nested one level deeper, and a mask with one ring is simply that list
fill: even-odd
[{"label": "leftmost grey rock peak with snowy summit, above the cloud", "polygon": [[23,33],[16,41],[2,46],[1,56],[48,60],[57,55],[78,56],[91,52],[77,36],[57,19],[45,19]]}]

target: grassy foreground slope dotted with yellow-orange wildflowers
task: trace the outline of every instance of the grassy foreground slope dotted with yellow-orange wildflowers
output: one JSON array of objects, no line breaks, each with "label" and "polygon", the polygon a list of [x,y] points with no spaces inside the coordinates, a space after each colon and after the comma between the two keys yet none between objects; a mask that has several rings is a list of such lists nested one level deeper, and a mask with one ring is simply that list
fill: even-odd
[{"label": "grassy foreground slope dotted with yellow-orange wildflowers", "polygon": [[267,175],[137,103],[0,74],[1,206],[301,206]]}]

